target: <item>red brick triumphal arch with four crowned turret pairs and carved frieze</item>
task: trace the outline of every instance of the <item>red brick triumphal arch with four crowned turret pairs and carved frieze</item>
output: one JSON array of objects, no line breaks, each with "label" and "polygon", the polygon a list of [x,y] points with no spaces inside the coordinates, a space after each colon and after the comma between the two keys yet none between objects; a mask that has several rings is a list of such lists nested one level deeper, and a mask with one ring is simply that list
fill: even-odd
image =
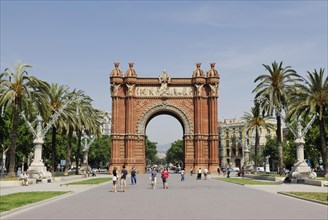
[{"label": "red brick triumphal arch with four crowned turret pairs and carved frieze", "polygon": [[[110,169],[123,164],[146,167],[145,137],[148,122],[161,114],[175,117],[183,128],[184,164],[210,172],[218,166],[218,95],[220,77],[215,63],[204,73],[201,64],[191,78],[174,78],[163,71],[159,77],[141,78],[133,63],[123,73],[114,63],[110,73],[112,130]],[[165,126],[165,125],[163,125]]]}]

